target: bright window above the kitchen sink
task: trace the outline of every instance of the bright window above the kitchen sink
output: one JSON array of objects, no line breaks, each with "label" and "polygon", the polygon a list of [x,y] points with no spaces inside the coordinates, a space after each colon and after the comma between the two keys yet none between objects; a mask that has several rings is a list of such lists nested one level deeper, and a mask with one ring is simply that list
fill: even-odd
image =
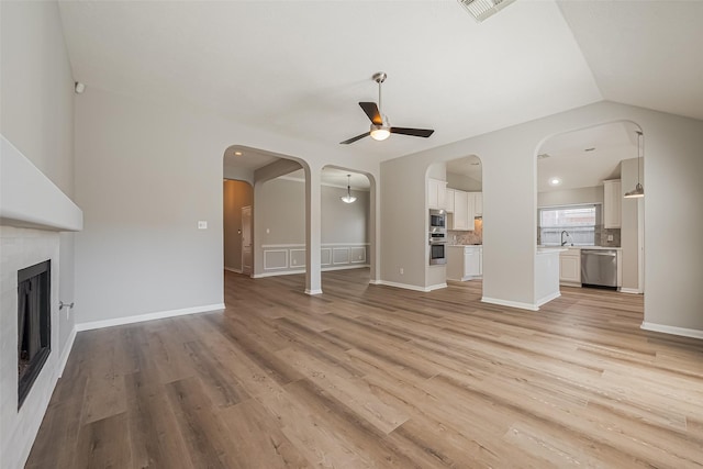
[{"label": "bright window above the kitchen sink", "polygon": [[594,246],[600,209],[595,204],[539,209],[539,244],[560,246],[565,241],[568,245]]}]

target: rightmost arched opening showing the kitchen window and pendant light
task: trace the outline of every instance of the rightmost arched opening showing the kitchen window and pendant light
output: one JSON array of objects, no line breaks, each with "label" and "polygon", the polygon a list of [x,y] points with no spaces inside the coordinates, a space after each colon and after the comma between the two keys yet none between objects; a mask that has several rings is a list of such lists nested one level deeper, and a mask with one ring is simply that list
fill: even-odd
[{"label": "rightmost arched opening showing the kitchen window and pendant light", "polygon": [[571,247],[560,255],[561,286],[591,284],[583,252],[607,248],[616,253],[616,284],[601,278],[595,284],[644,292],[644,198],[624,197],[644,186],[643,149],[641,129],[631,121],[551,135],[539,145],[537,243]]}]

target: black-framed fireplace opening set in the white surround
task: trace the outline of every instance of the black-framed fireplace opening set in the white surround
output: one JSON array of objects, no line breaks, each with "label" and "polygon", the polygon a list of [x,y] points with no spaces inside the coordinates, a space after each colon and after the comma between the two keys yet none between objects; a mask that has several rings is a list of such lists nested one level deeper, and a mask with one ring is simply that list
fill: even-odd
[{"label": "black-framed fireplace opening set in the white surround", "polygon": [[52,351],[51,263],[18,271],[18,409]]}]

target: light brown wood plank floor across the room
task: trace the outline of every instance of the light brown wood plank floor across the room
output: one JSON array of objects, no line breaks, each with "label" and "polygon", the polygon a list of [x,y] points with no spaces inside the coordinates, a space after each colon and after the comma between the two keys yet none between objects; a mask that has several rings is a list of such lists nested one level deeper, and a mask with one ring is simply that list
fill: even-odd
[{"label": "light brown wood plank floor across the room", "polygon": [[226,272],[224,312],[80,333],[27,467],[703,466],[703,343],[641,297],[367,282]]}]

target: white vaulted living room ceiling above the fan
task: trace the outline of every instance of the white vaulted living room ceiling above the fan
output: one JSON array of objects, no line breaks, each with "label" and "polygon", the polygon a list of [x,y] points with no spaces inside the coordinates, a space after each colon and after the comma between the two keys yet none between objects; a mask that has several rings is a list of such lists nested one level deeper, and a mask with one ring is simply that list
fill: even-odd
[{"label": "white vaulted living room ceiling above the fan", "polygon": [[455,0],[59,5],[87,86],[335,149],[386,71],[391,125],[435,134],[342,148],[380,160],[603,99],[703,119],[703,2],[518,0],[480,24]]}]

